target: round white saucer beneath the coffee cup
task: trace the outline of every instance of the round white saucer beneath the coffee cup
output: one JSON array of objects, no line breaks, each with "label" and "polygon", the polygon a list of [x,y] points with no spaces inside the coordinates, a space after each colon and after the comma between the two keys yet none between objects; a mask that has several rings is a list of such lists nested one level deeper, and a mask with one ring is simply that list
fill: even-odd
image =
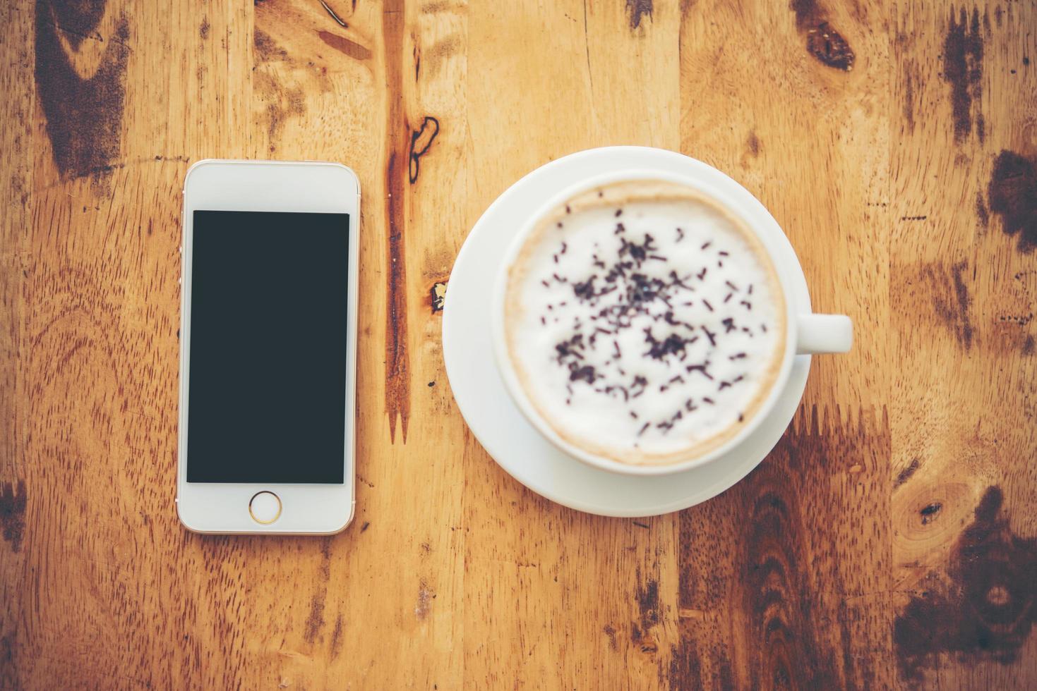
[{"label": "round white saucer beneath the coffee cup", "polygon": [[[810,355],[797,355],[785,394],[773,414],[727,456],[669,476],[620,476],[591,467],[561,452],[526,421],[504,388],[491,344],[494,277],[508,243],[531,209],[580,178],[616,170],[655,169],[703,181],[730,178],[685,155],[640,146],[589,149],[553,161],[508,188],[485,210],[457,254],[443,313],[443,357],[454,399],[472,433],[512,478],[564,507],[600,516],[657,516],[694,507],[745,478],[770,452],[795,414],[807,385]],[[748,190],[739,200],[757,219],[777,222]],[[779,233],[784,238],[783,233]],[[810,312],[810,295],[792,246],[782,243],[779,261],[795,289],[797,313]]]}]

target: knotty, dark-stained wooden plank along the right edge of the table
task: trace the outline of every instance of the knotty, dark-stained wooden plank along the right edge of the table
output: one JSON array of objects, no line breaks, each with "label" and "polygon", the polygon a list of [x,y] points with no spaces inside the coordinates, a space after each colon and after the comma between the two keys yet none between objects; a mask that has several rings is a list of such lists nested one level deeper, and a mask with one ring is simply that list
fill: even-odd
[{"label": "knotty, dark-stained wooden plank along the right edge of the table", "polygon": [[918,686],[1027,688],[1037,674],[1037,75],[1027,64],[1037,13],[912,3],[895,20],[898,670]]}]

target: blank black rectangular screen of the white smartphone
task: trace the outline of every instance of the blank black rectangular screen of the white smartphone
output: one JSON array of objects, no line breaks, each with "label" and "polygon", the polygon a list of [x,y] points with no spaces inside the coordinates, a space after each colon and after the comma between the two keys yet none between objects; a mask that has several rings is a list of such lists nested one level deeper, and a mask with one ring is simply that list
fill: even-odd
[{"label": "blank black rectangular screen of the white smartphone", "polygon": [[348,234],[346,213],[194,212],[188,482],[344,481]]}]

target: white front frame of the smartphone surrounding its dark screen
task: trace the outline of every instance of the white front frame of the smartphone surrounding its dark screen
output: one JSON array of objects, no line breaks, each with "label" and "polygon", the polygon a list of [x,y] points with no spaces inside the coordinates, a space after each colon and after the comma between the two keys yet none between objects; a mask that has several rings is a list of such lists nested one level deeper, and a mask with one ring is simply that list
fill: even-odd
[{"label": "white front frame of the smartphone surrounding its dark screen", "polygon": [[[349,214],[346,330],[345,456],[341,485],[189,483],[188,388],[191,346],[191,267],[194,211],[298,211]],[[332,535],[353,520],[356,479],[357,290],[360,182],[340,164],[274,161],[199,161],[184,180],[180,248],[180,371],[176,513],[195,532]],[[290,463],[291,459],[285,459]],[[271,491],[281,500],[270,524],[254,520],[251,498]]]}]

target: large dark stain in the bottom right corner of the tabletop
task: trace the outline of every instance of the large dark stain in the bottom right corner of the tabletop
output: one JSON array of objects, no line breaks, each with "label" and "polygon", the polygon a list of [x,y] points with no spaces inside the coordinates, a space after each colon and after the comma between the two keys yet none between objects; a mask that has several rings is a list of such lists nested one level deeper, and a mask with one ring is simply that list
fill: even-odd
[{"label": "large dark stain in the bottom right corner of the tabletop", "polygon": [[1011,664],[1037,620],[1037,539],[1009,527],[1004,496],[988,487],[951,553],[949,582],[913,596],[897,615],[893,642],[903,676],[921,678],[940,653],[972,664]]}]

